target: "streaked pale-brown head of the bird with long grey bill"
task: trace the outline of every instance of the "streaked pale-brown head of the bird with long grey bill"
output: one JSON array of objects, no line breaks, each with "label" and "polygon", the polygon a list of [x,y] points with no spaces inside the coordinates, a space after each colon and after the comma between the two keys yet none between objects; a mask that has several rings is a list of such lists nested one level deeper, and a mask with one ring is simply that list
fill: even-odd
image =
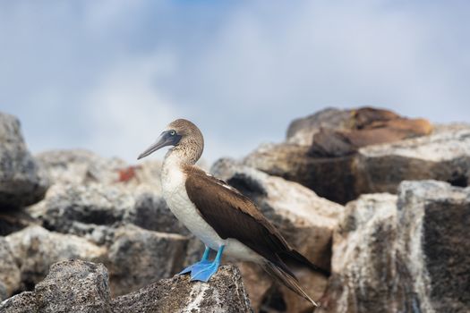
[{"label": "streaked pale-brown head of the bird with long grey bill", "polygon": [[[178,119],[169,123],[165,131],[158,136],[157,141],[141,153],[137,159],[147,157],[159,148],[173,146],[173,151],[179,152],[182,161],[196,163],[204,148],[204,139],[199,128],[194,123]],[[172,151],[172,152],[173,152]]]}]

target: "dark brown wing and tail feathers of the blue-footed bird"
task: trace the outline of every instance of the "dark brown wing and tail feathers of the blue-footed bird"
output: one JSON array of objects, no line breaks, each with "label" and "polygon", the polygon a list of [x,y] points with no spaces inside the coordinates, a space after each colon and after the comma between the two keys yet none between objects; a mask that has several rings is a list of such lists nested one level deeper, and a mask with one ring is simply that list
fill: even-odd
[{"label": "dark brown wing and tail feathers of the blue-footed bird", "polygon": [[[292,249],[278,230],[261,214],[252,200],[226,182],[209,176],[201,169],[184,166],[187,174],[186,191],[199,209],[201,216],[222,239],[234,238],[266,258],[263,268],[292,291],[317,305],[299,285],[286,263],[307,266],[329,276],[329,271],[314,265],[298,251]],[[234,224],[235,227],[226,227]]]}]

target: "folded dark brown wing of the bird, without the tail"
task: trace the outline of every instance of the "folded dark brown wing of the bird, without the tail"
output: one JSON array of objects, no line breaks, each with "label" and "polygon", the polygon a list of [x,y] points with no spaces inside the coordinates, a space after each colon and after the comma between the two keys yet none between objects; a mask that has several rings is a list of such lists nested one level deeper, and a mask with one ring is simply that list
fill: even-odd
[{"label": "folded dark brown wing of the bird, without the tail", "polygon": [[186,173],[189,198],[220,238],[234,238],[285,269],[278,253],[291,248],[250,199],[201,169],[192,167]]}]

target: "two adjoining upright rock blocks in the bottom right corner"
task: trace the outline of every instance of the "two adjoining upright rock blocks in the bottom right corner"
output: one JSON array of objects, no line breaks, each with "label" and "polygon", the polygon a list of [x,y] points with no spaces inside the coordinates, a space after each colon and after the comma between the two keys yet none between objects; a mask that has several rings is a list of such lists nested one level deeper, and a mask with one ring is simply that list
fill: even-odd
[{"label": "two adjoining upright rock blocks in the bottom right corner", "polygon": [[320,312],[467,312],[470,188],[402,182],[363,195],[334,234]]}]

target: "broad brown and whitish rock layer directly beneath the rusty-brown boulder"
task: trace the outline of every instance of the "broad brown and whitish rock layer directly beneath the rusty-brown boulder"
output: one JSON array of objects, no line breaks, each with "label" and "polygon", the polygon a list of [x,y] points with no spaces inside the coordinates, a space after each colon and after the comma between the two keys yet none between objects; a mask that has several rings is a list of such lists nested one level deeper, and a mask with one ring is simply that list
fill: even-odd
[{"label": "broad brown and whitish rock layer directly beneath the rusty-brown boulder", "polygon": [[470,126],[440,126],[429,136],[359,148],[347,157],[312,157],[309,148],[295,144],[265,145],[245,157],[244,164],[338,203],[366,193],[396,193],[404,180],[435,179],[465,187]]}]

